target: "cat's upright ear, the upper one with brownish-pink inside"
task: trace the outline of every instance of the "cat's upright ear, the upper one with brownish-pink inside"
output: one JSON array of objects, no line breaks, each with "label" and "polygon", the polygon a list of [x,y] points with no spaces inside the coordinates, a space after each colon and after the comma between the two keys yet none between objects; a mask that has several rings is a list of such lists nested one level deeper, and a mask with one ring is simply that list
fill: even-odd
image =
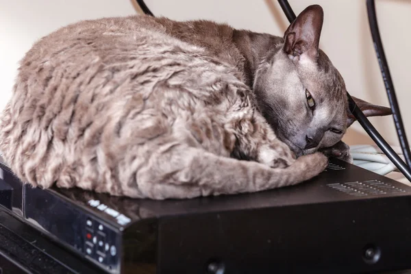
[{"label": "cat's upright ear, the upper one with brownish-pink inside", "polygon": [[284,33],[284,52],[294,60],[300,60],[302,56],[316,60],[323,21],[323,8],[320,5],[308,6]]}]

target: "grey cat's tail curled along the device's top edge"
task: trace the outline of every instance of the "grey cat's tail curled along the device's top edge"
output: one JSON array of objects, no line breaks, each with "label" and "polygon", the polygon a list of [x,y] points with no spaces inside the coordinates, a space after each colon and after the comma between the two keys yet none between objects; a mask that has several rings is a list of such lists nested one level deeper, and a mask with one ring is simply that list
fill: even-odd
[{"label": "grey cat's tail curled along the device's top edge", "polygon": [[149,177],[138,176],[140,195],[151,199],[187,199],[258,192],[307,181],[327,165],[327,157],[318,152],[303,155],[284,169],[225,158],[196,148],[174,152],[168,155],[168,162],[158,158],[155,172],[146,173]]}]

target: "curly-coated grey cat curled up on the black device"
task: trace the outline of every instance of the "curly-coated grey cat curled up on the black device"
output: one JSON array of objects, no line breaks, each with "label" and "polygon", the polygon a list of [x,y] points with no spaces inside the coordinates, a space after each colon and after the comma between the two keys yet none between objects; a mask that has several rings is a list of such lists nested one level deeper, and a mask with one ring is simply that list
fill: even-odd
[{"label": "curly-coated grey cat curled up on the black device", "polygon": [[133,198],[305,182],[327,156],[349,160],[341,139],[355,121],[322,27],[319,5],[284,37],[147,15],[67,25],[21,60],[0,151],[32,186]]}]

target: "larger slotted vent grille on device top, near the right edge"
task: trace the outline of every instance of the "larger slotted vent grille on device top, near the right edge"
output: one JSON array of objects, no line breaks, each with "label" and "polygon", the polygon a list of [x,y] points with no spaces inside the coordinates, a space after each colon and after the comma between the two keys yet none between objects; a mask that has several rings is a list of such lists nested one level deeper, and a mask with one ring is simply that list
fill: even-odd
[{"label": "larger slotted vent grille on device top, near the right edge", "polygon": [[388,183],[381,182],[377,179],[363,181],[363,182],[347,182],[327,184],[330,188],[334,188],[340,192],[347,193],[352,196],[373,196],[386,195],[395,193],[404,193],[406,190],[397,188]]}]

